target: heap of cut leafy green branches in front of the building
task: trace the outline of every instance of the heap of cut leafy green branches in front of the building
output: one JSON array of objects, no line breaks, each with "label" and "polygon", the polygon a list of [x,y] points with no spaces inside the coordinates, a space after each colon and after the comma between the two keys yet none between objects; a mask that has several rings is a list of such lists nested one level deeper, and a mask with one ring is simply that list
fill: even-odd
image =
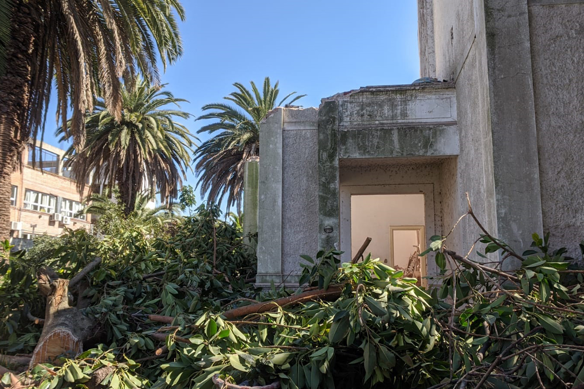
[{"label": "heap of cut leafy green branches in front of the building", "polygon": [[[470,206],[467,216],[478,223]],[[483,229],[464,256],[449,250],[447,236],[434,236],[430,250],[442,274],[429,291],[370,256],[340,264],[339,252],[321,251],[302,256],[303,288],[261,292],[245,281],[251,273],[239,272],[248,258],[244,246],[238,251],[241,234],[220,240],[220,223],[210,219],[153,243],[155,250],[89,271],[83,294],[91,304],[80,311],[103,338],[75,358],[7,373],[4,383],[584,387],[584,271],[565,249],[552,250],[547,236],[534,234],[533,250],[517,254]],[[196,256],[185,254],[199,245]],[[232,267],[230,255],[244,262]],[[496,255],[503,261],[488,262]],[[501,268],[509,258],[519,264],[514,271]],[[165,274],[144,278],[160,271],[158,261]]]}]

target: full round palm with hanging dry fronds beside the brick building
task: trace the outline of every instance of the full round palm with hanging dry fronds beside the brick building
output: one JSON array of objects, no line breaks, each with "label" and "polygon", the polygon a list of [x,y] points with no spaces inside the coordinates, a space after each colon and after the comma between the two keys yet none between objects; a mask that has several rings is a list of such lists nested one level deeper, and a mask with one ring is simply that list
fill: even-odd
[{"label": "full round palm with hanging dry fronds beside the brick building", "polygon": [[[190,114],[168,108],[186,100],[176,99],[162,90],[164,86],[149,86],[137,79],[128,89],[123,87],[119,121],[98,99],[85,122],[85,144],[78,150],[71,146],[67,152],[74,177],[89,177],[93,172],[106,187],[117,185],[126,215],[145,188],[151,196],[158,191],[169,204],[177,197],[189,169],[191,135],[174,118],[187,119]],[[70,132],[61,128],[57,134],[64,135],[61,140],[66,141]],[[85,181],[77,183],[82,191]]]}]

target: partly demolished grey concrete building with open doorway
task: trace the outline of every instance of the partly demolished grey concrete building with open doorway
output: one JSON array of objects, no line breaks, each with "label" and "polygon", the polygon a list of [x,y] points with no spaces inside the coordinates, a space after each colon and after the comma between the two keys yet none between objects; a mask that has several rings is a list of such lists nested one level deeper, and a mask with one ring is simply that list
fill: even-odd
[{"label": "partly demolished grey concrete building with open doorway", "polygon": [[[418,7],[420,76],[433,81],[362,87],[318,109],[276,108],[263,123],[258,285],[294,285],[298,255],[336,247],[346,261],[375,233],[384,241],[373,255],[399,261],[395,227],[422,220],[424,240],[445,235],[467,211],[466,192],[485,228],[516,251],[550,232],[553,246],[579,257],[584,0]],[[391,195],[423,201],[398,218],[390,211],[398,197],[389,205],[376,197]],[[467,218],[447,245],[466,253],[478,236]],[[432,255],[422,265],[436,274]]]}]

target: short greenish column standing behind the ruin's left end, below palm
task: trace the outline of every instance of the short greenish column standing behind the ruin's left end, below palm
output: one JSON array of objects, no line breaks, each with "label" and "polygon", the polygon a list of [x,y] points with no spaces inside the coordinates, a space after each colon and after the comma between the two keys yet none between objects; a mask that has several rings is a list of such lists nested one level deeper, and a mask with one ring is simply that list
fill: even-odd
[{"label": "short greenish column standing behind the ruin's left end, below palm", "polygon": [[[259,157],[247,160],[244,165],[244,235],[258,232],[258,180]],[[255,240],[246,239],[246,244],[257,250]]]}]

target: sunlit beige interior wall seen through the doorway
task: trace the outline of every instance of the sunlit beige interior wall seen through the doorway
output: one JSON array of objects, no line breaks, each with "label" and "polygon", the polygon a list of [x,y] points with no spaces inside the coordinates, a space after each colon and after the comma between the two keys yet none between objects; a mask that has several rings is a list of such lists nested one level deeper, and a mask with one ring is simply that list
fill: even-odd
[{"label": "sunlit beige interior wall seen through the doorway", "polygon": [[369,236],[371,243],[365,255],[371,253],[373,258],[389,263],[390,227],[423,225],[423,194],[352,195],[351,257]]}]

